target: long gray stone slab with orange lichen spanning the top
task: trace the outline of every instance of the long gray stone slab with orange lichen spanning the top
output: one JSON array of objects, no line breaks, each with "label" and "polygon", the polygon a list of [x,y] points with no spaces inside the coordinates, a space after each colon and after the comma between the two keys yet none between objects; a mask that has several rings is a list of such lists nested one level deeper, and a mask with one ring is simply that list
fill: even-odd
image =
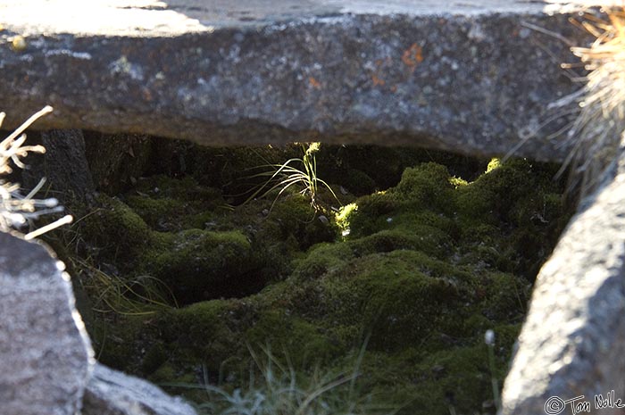
[{"label": "long gray stone slab with orange lichen spanning the top", "polygon": [[[333,143],[505,154],[544,120],[546,104],[575,88],[560,63],[574,60],[566,39],[580,44],[584,34],[544,6],[5,1],[0,95],[11,103],[5,124],[52,104],[54,113],[38,129],[206,145],[283,143],[321,133]],[[557,127],[519,154],[562,160],[567,146],[545,137]]]}]

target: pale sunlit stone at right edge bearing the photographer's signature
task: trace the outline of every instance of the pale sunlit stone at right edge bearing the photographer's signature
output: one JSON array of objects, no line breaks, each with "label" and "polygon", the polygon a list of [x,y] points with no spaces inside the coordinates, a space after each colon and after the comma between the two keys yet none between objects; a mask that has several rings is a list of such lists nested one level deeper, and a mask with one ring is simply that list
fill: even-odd
[{"label": "pale sunlit stone at right edge bearing the photographer's signature", "polygon": [[[625,156],[540,270],[503,394],[504,415],[560,413],[612,390],[625,405]],[[559,398],[559,401],[556,398]],[[564,404],[562,413],[571,412]],[[584,412],[586,413],[586,412]]]}]

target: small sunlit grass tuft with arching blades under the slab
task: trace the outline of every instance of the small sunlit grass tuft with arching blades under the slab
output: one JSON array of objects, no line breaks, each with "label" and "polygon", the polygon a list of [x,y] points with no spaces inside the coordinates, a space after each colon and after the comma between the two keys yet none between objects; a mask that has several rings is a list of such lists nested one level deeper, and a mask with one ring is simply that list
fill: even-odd
[{"label": "small sunlit grass tuft with arching blades under the slab", "polygon": [[280,195],[284,194],[292,186],[299,187],[299,193],[310,197],[311,206],[315,212],[321,211],[321,204],[319,203],[320,187],[327,188],[337,202],[340,203],[337,195],[329,187],[328,183],[317,176],[317,159],[315,154],[319,152],[320,148],[321,143],[302,144],[302,152],[304,154],[301,158],[288,159],[287,162],[282,164],[259,166],[259,168],[269,168],[271,170],[250,176],[250,178],[267,178],[267,180],[247,198],[245,203],[257,197],[266,197],[274,190],[279,190],[278,195],[271,203],[271,209],[273,209]]}]

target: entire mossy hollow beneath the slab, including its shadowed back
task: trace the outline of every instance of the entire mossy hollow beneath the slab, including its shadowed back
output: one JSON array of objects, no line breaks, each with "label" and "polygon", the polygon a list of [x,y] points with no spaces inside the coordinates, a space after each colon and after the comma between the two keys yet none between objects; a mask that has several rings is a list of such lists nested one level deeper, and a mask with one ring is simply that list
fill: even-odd
[{"label": "entire mossy hollow beneath the slab, including its shadowed back", "polygon": [[322,147],[320,176],[347,207],[333,212],[322,195],[315,213],[291,192],[270,212],[271,197],[233,206],[228,192],[242,166],[294,149],[179,148],[193,154],[185,171],[172,157],[152,171],[168,174],[101,193],[68,244],[83,309],[104,297],[85,262],[145,304],[83,311],[100,361],[201,400],[171,384],[241,386],[248,347],[269,345],[304,373],[348,371],[366,344],[360,387],[399,413],[495,411],[483,336],[496,333],[501,385],[533,278],[569,219],[557,166],[513,160],[485,173],[487,162],[446,154],[383,150],[386,163],[371,148]]}]

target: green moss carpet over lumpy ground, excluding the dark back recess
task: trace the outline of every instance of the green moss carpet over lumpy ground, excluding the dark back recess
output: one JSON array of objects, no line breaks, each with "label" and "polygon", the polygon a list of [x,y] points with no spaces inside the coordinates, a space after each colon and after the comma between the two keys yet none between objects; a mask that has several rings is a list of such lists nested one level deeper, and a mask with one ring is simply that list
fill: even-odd
[{"label": "green moss carpet over lumpy ground, excluding the dark back recess", "polygon": [[[271,343],[298,363],[317,359],[334,370],[369,338],[365,387],[408,403],[399,413],[479,411],[491,399],[484,332],[495,329],[502,339],[501,379],[529,295],[526,275],[566,220],[551,171],[512,160],[468,183],[422,163],[405,170],[396,187],[325,213],[325,222],[293,192],[271,212],[271,200],[232,212],[202,204],[206,220],[191,224],[200,214],[193,203],[221,195],[188,178],[142,180],[144,195],[124,196],[128,204],[105,201],[145,239],[131,270],[167,280],[178,295],[199,295],[133,325],[139,334],[125,330],[123,317],[106,326],[111,338],[131,345],[113,344],[103,354],[112,361],[119,352],[121,369],[155,381],[199,381],[206,373],[234,390],[249,368],[246,343]],[[112,216],[94,219],[105,218]],[[155,230],[163,218],[174,226]],[[346,229],[351,233],[341,239]],[[258,278],[262,284],[254,286]],[[220,291],[224,285],[242,298]]]}]

